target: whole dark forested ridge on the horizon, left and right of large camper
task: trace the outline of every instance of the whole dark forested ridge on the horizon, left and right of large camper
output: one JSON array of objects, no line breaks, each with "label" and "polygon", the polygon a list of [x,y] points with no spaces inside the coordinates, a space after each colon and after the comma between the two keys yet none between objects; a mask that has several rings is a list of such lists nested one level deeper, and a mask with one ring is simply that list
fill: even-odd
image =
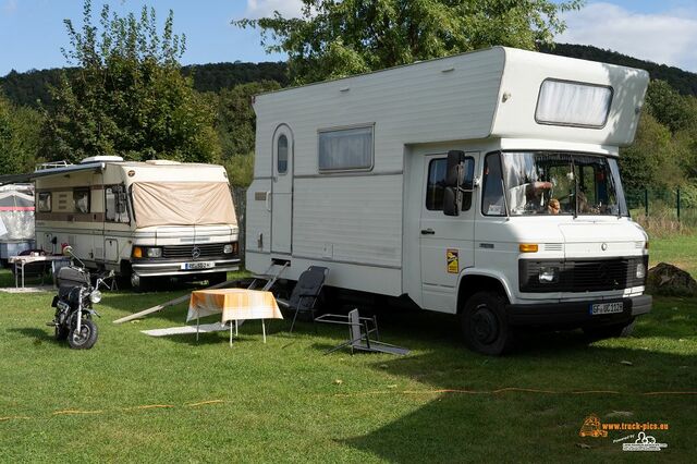
[{"label": "whole dark forested ridge on the horizon, left and right of large camper", "polygon": [[[542,47],[540,51],[640,68],[647,70],[652,80],[665,81],[683,95],[697,96],[697,74],[678,68],[638,60],[622,53],[585,45],[558,44],[553,48]],[[26,73],[12,71],[7,76],[0,77],[0,89],[16,105],[36,107],[38,99],[48,108],[51,106],[48,86],[49,84],[56,85],[58,83],[60,71],[59,69],[33,70]],[[69,69],[68,72],[71,72],[71,70]],[[276,81],[281,86],[288,84],[285,63],[282,62],[193,64],[183,66],[183,72],[185,75],[194,77],[194,87],[198,91],[218,93],[222,88],[259,81]]]}]

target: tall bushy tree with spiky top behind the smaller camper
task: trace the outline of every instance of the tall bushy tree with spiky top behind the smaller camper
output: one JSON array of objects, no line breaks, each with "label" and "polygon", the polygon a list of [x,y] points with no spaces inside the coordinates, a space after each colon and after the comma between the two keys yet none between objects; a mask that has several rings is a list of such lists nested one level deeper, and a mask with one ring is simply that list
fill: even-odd
[{"label": "tall bushy tree with spiky top behind the smaller camper", "polygon": [[64,21],[71,49],[62,51],[77,70],[63,73],[51,89],[46,157],[218,160],[215,108],[181,74],[185,37],[173,34],[172,11],[161,36],[154,9],[144,7],[139,19],[133,13],[120,17],[105,4],[100,27],[91,16],[86,0],[82,30]]}]

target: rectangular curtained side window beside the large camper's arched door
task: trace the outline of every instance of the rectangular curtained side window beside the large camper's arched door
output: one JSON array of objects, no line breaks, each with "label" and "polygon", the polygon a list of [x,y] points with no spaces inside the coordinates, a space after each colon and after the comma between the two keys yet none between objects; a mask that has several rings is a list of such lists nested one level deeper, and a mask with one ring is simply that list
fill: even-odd
[{"label": "rectangular curtained side window beside the large camper's arched door", "polygon": [[319,171],[372,168],[372,126],[319,132]]}]

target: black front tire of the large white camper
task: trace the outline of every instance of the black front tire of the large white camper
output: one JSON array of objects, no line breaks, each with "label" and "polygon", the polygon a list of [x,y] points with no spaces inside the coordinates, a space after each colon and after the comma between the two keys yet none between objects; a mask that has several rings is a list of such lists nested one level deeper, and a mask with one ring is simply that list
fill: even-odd
[{"label": "black front tire of the large white camper", "polygon": [[461,314],[467,346],[481,354],[499,356],[513,344],[513,329],[505,316],[505,298],[493,292],[479,292],[465,303]]}]

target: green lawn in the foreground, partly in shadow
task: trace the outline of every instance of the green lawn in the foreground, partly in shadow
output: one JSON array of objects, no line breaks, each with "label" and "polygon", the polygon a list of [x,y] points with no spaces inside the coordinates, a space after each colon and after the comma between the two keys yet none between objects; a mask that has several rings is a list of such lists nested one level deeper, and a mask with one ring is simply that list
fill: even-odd
[{"label": "green lawn in the foreground, partly in shadow", "polygon": [[[0,286],[11,284],[1,271]],[[289,335],[286,321],[267,344],[249,321],[232,349],[227,333],[196,343],[139,332],[182,325],[186,305],[111,322],[185,292],[106,294],[99,340],[84,352],[52,340],[51,293],[0,293],[0,461],[652,459],[612,442],[629,432],[580,438],[590,413],[668,423],[653,434],[669,443],[663,457],[694,459],[697,395],[678,392],[697,391],[695,300],[657,300],[629,339],[537,334],[501,358],[466,351],[455,320],[430,313],[379,315],[382,337],[413,350],[405,357],[323,355],[343,331],[303,323]],[[632,415],[607,417],[615,411]]]}]

